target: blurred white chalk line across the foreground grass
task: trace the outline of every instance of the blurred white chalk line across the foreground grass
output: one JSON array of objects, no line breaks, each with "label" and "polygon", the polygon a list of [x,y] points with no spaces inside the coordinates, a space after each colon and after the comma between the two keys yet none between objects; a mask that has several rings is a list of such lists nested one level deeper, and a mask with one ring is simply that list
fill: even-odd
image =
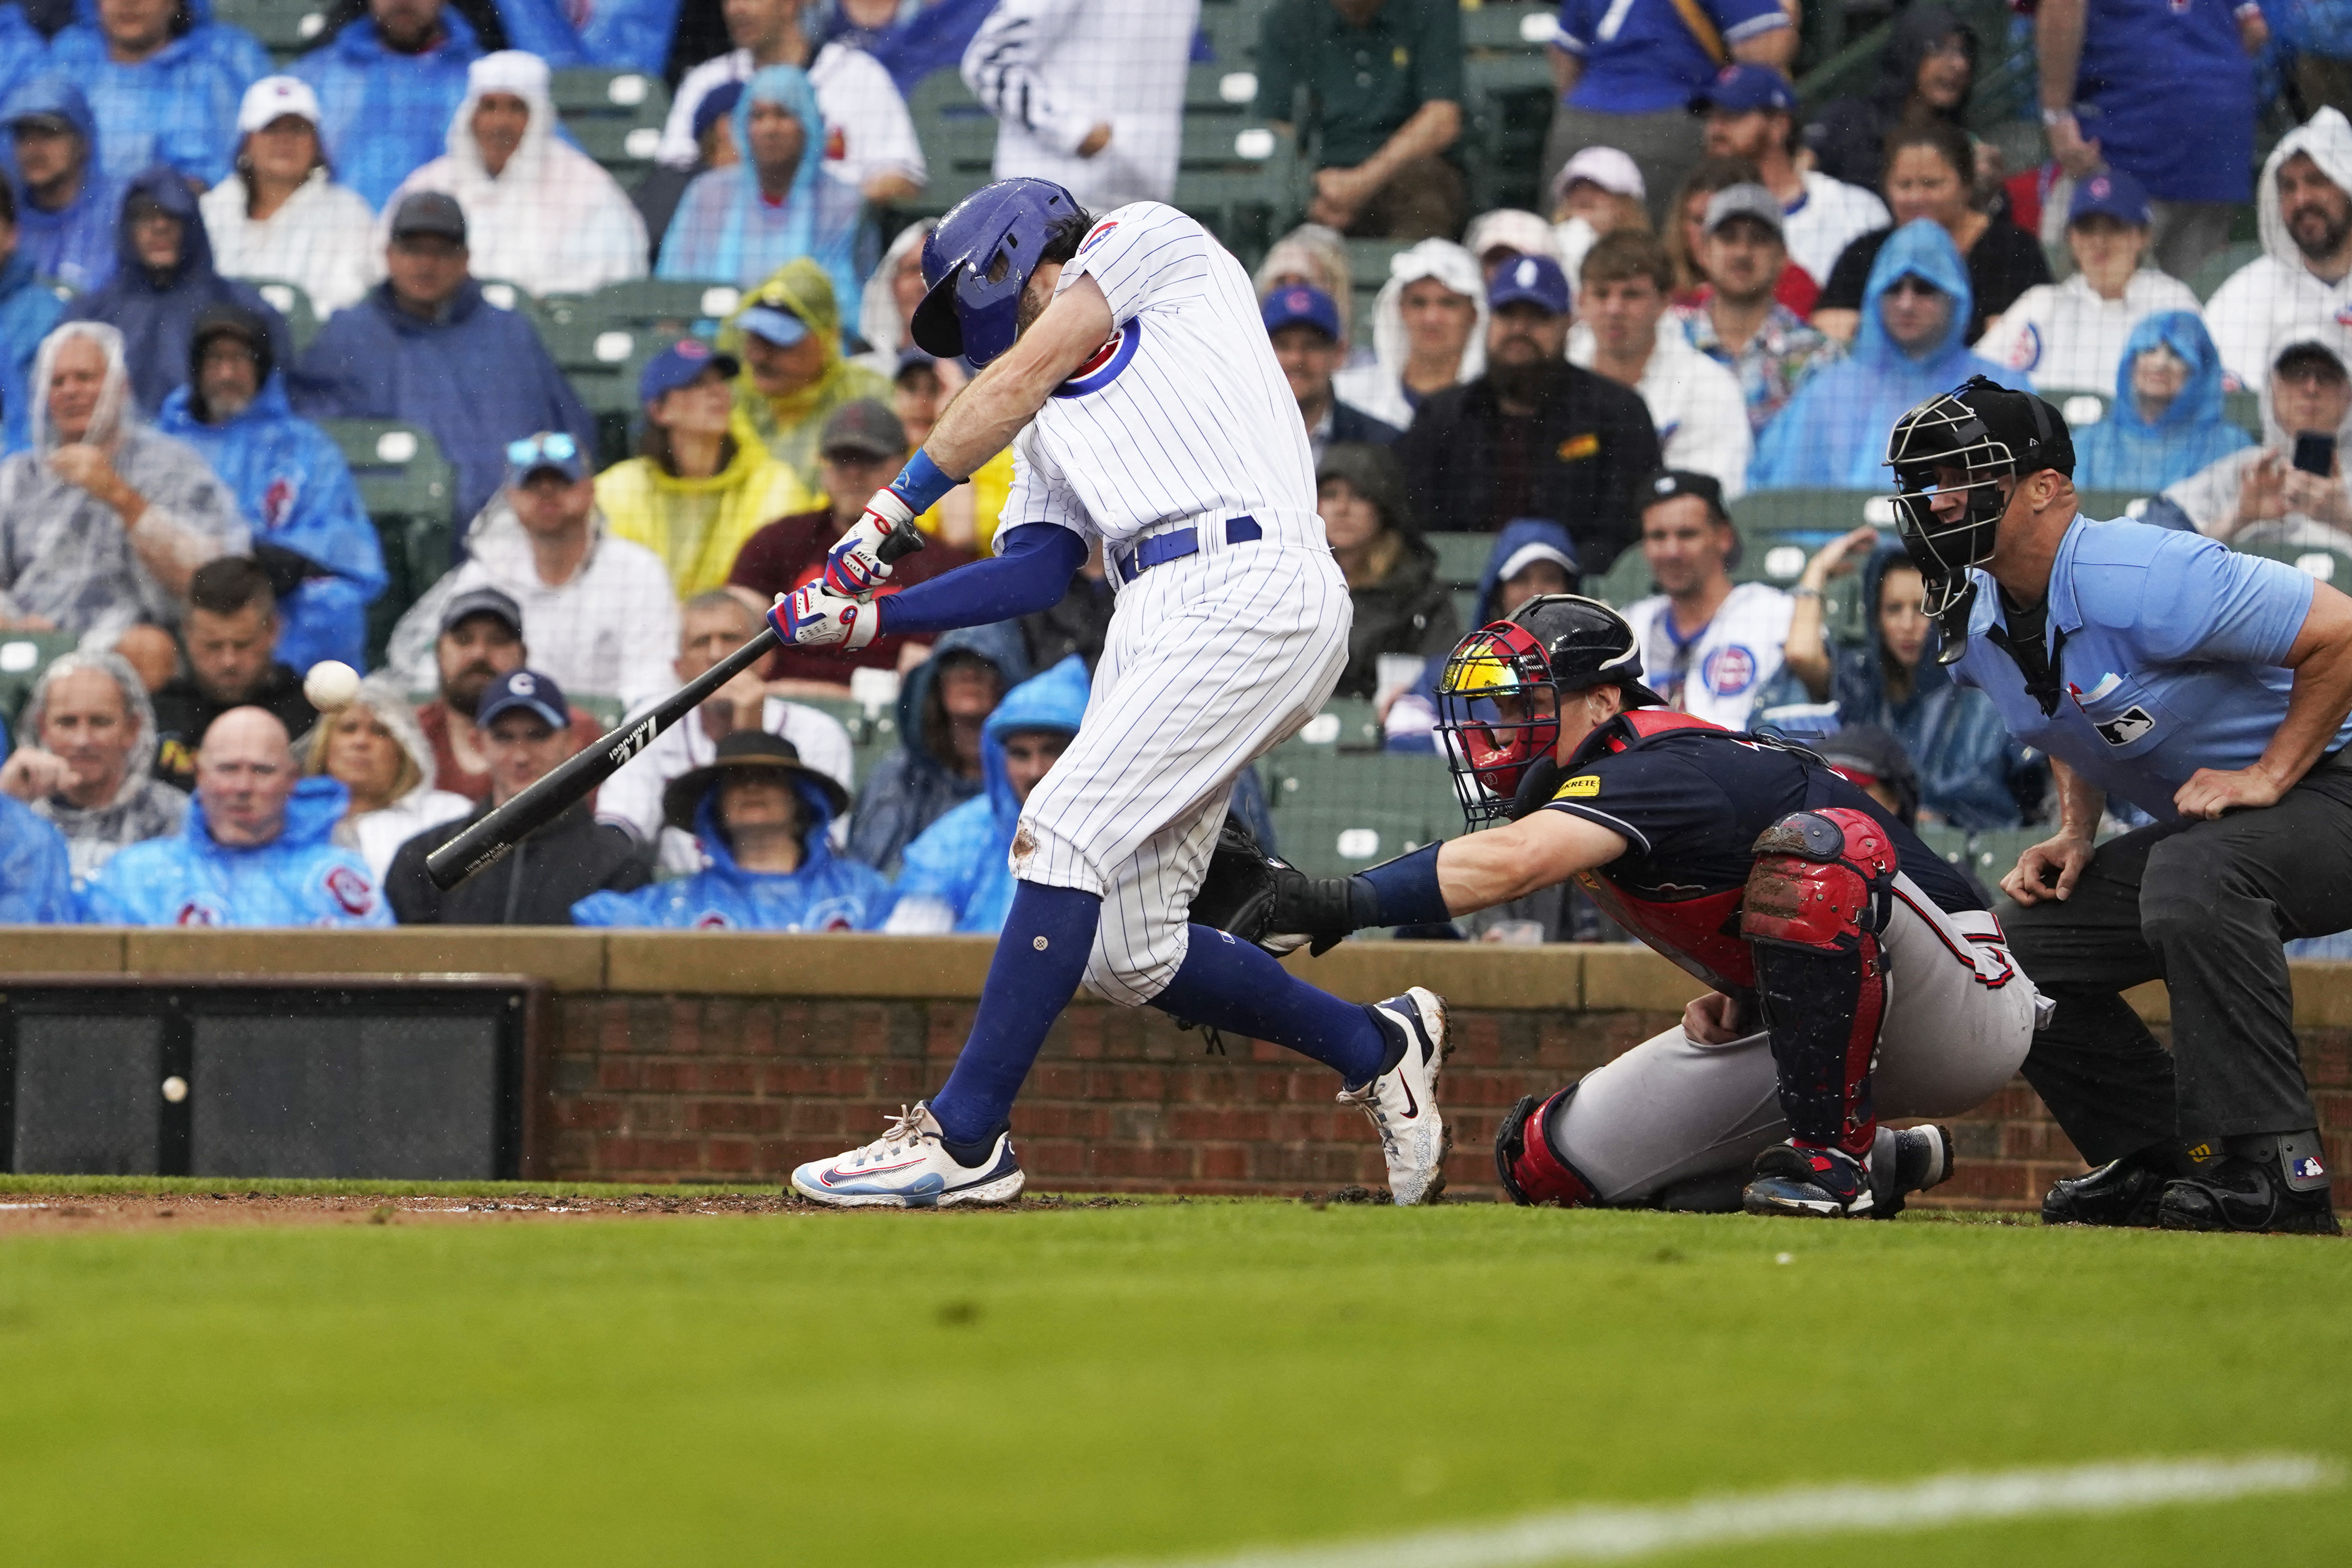
[{"label": "blurred white chalk line across the foreground grass", "polygon": [[[1668,1507],[1552,1509],[1496,1526],[1456,1526],[1327,1547],[1249,1547],[1228,1556],[1162,1559],[1148,1568],[1611,1563],[1656,1552],[1783,1535],[1926,1530],[2037,1514],[2124,1514],[2180,1502],[2307,1493],[2340,1483],[2340,1467],[2300,1453],[2258,1453],[2237,1460],[2133,1460],[2067,1469],[1929,1476],[1900,1486],[1790,1486],[1773,1493],[1693,1497]],[[1129,1561],[1124,1568],[1145,1566]]]}]

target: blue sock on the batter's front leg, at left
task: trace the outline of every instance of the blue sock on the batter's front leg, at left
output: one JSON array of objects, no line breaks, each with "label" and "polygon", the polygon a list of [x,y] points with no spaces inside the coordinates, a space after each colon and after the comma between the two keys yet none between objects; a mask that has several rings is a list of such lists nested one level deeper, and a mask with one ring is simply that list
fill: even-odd
[{"label": "blue sock on the batter's front leg, at left", "polygon": [[[985,1145],[1011,1121],[1014,1095],[1037,1060],[1044,1032],[1061,1018],[1087,973],[1094,929],[1103,919],[1103,900],[1077,889],[1049,889],[1023,882],[1014,889],[1014,907],[997,938],[997,957],[988,961],[988,985],[981,987],[981,1011],[971,1018],[971,1039],[955,1058],[948,1086],[931,1095],[931,1114],[948,1152],[971,1166],[985,1157]],[[981,1145],[964,1159],[969,1145]]]}]

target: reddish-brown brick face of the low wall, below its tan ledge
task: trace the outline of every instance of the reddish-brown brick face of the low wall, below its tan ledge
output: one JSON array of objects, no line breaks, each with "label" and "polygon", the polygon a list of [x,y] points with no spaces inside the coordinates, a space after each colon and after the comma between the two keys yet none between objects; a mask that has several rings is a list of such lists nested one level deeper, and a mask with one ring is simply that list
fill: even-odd
[{"label": "reddish-brown brick face of the low wall, below its tan ledge", "polygon": [[[569,997],[555,1046],[553,1175],[579,1180],[781,1182],[837,1154],[936,1088],[971,1023],[950,1001],[762,1001]],[[1498,1197],[1501,1112],[1668,1027],[1675,1013],[1456,1011],[1444,1105],[1456,1126],[1449,1190]],[[1016,1147],[1040,1187],[1275,1192],[1383,1182],[1362,1112],[1331,1074],[1256,1041],[1207,1056],[1157,1013],[1073,1009],[1051,1032],[1021,1107]],[[2352,1168],[2352,1034],[2305,1039],[2328,1152]],[[2037,1208],[2082,1159],[2023,1079],[1952,1124],[1959,1173],[1936,1201]],[[2352,1187],[2347,1187],[2352,1199]]]}]

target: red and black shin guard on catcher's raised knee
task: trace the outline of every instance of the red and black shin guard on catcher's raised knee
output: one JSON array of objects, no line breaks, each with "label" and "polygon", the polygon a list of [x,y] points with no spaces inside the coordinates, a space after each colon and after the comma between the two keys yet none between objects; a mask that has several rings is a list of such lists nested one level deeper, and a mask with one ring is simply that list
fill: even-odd
[{"label": "red and black shin guard on catcher's raised knee", "polygon": [[1896,846],[1867,811],[1797,811],[1757,837],[1740,933],[1797,1143],[1870,1157]]}]

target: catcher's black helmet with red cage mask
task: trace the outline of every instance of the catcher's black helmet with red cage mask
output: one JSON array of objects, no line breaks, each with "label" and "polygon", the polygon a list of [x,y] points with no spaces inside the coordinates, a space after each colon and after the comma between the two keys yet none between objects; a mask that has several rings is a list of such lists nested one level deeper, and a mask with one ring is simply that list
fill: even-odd
[{"label": "catcher's black helmet with red cage mask", "polygon": [[1661,703],[1642,684],[1632,625],[1583,595],[1538,595],[1456,644],[1437,677],[1437,733],[1472,830],[1510,816],[1519,780],[1559,745],[1562,693],[1602,684],[1625,708]]}]

